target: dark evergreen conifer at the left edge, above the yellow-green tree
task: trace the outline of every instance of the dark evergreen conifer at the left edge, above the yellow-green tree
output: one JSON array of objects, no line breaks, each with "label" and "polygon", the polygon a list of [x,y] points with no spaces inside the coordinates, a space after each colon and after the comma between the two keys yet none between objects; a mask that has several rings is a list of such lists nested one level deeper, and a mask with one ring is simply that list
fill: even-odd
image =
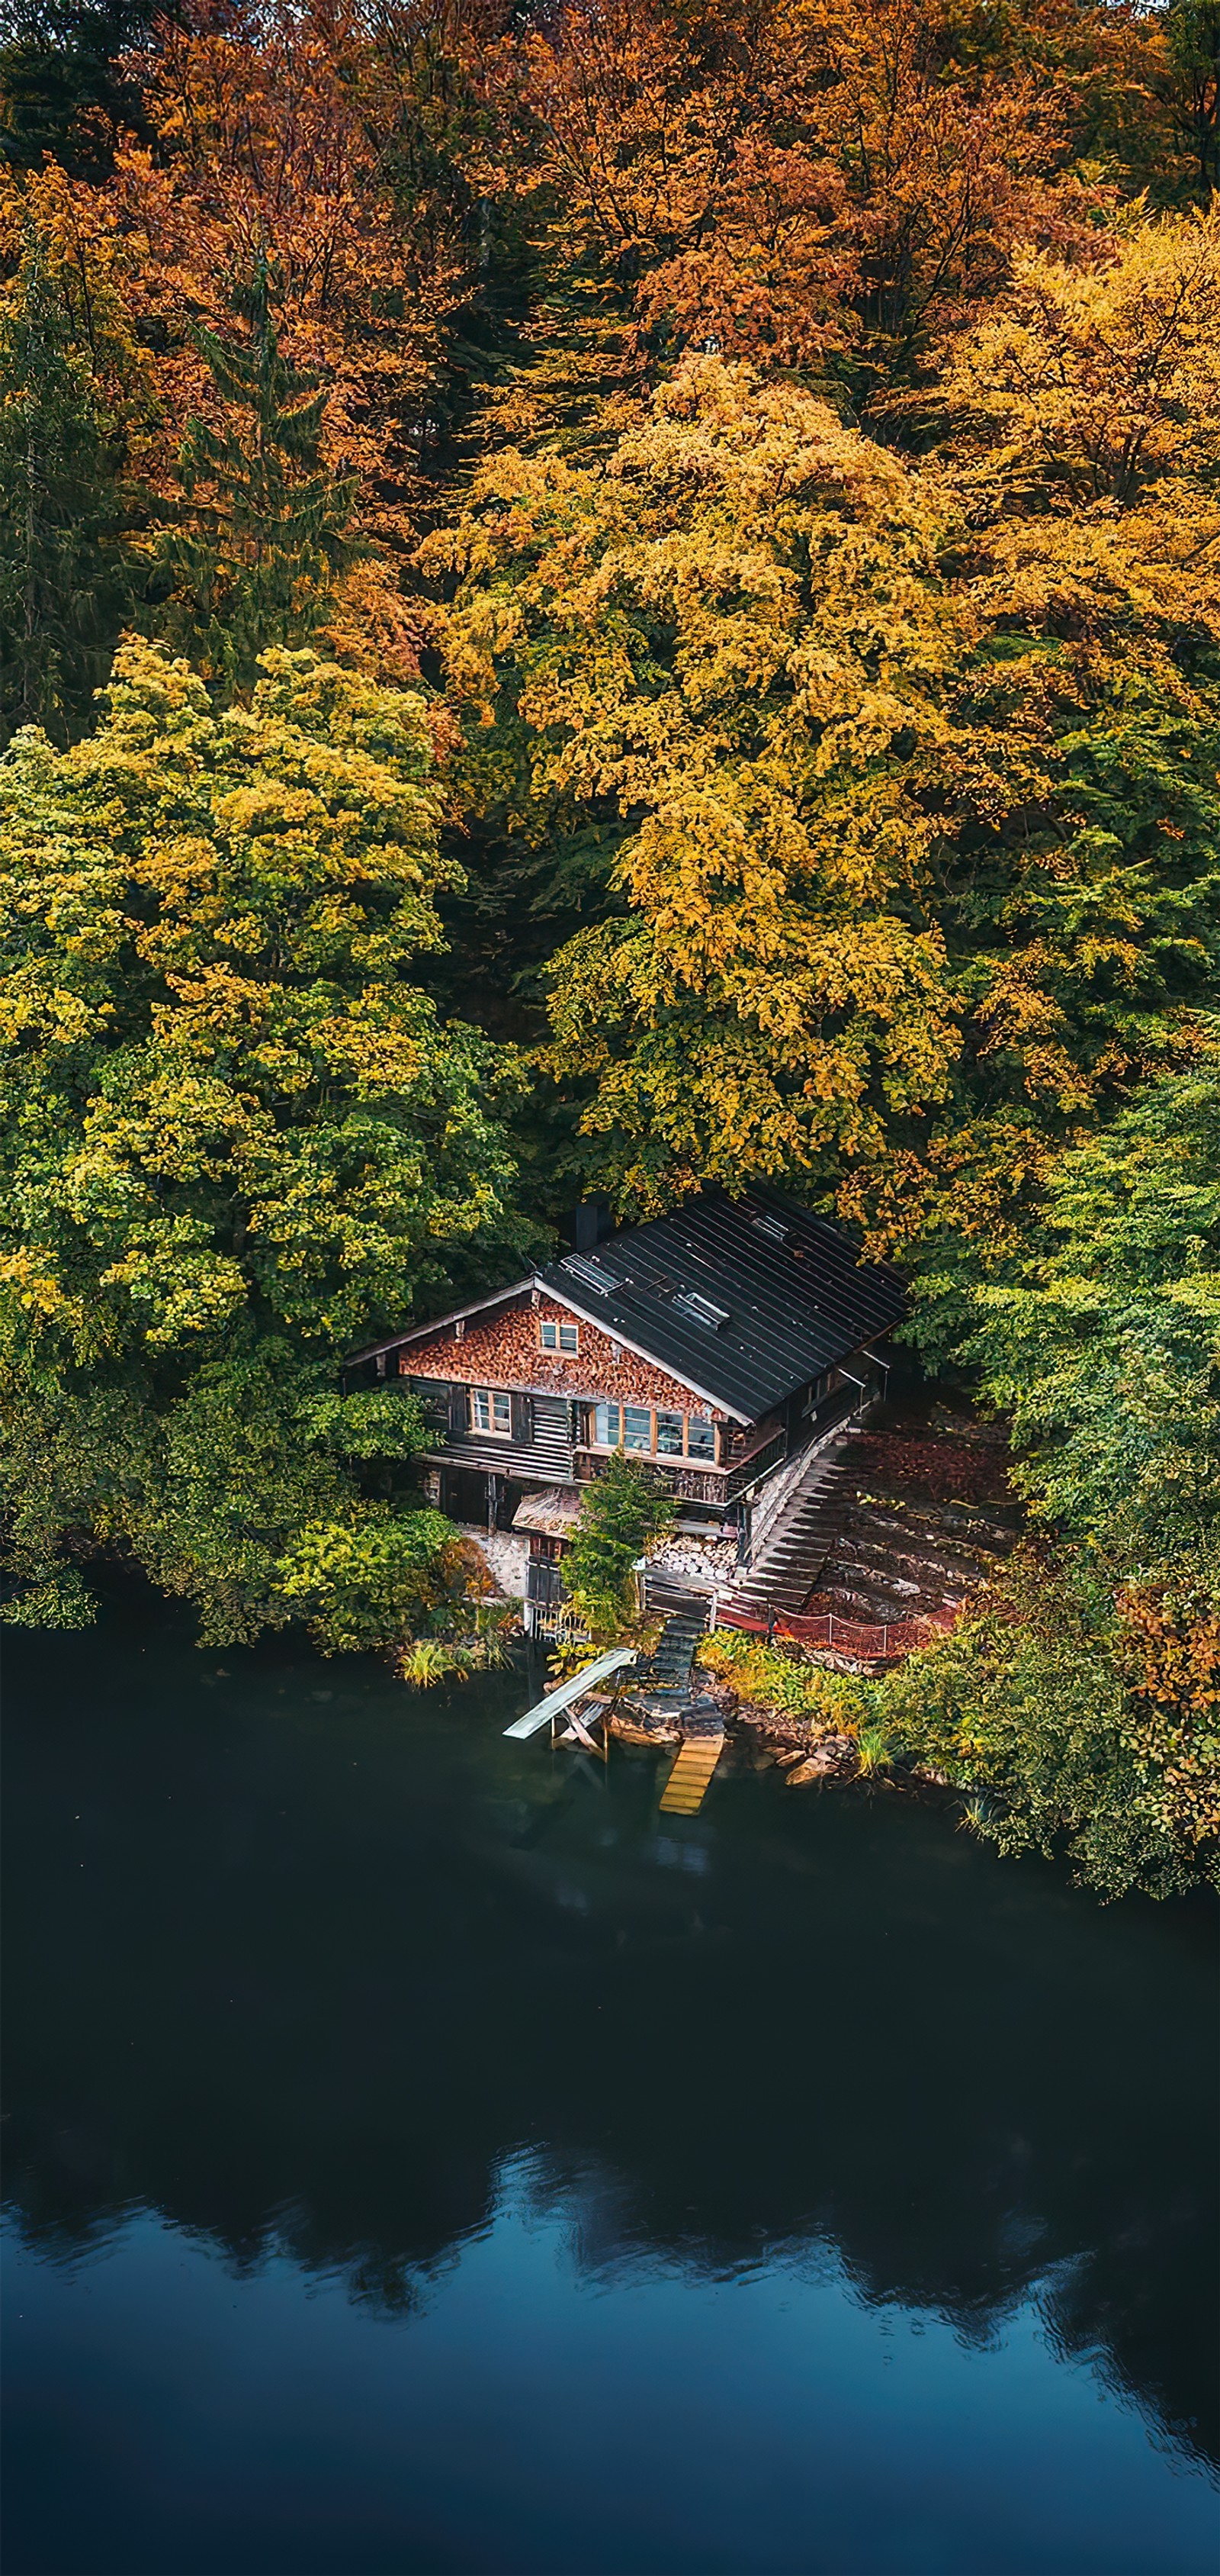
[{"label": "dark evergreen conifer at the left edge, above the yellow-green tree", "polygon": [[82,732],[129,605],[116,443],[31,227],[0,309],[0,739]]}]

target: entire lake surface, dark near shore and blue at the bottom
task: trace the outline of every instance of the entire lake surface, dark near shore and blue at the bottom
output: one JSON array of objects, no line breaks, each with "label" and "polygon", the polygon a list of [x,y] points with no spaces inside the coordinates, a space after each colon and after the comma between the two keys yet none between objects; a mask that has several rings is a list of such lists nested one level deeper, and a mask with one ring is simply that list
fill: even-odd
[{"label": "entire lake surface, dark near shore and blue at the bottom", "polygon": [[8,2576],[1215,2566],[1215,1942],[517,1677],[8,1646]]}]

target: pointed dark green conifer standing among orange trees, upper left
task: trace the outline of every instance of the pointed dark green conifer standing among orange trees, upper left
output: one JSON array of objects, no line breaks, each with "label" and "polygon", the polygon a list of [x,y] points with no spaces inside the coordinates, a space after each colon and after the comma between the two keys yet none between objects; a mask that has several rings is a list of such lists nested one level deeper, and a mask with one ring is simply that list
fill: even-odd
[{"label": "pointed dark green conifer standing among orange trees, upper left", "polygon": [[281,353],[273,273],[255,263],[234,296],[247,343],[198,332],[224,407],[190,420],[178,469],[185,505],[167,536],[172,598],[162,626],[224,693],[255,685],[257,657],[306,644],[353,556],[355,477],[322,461],[324,386]]}]

